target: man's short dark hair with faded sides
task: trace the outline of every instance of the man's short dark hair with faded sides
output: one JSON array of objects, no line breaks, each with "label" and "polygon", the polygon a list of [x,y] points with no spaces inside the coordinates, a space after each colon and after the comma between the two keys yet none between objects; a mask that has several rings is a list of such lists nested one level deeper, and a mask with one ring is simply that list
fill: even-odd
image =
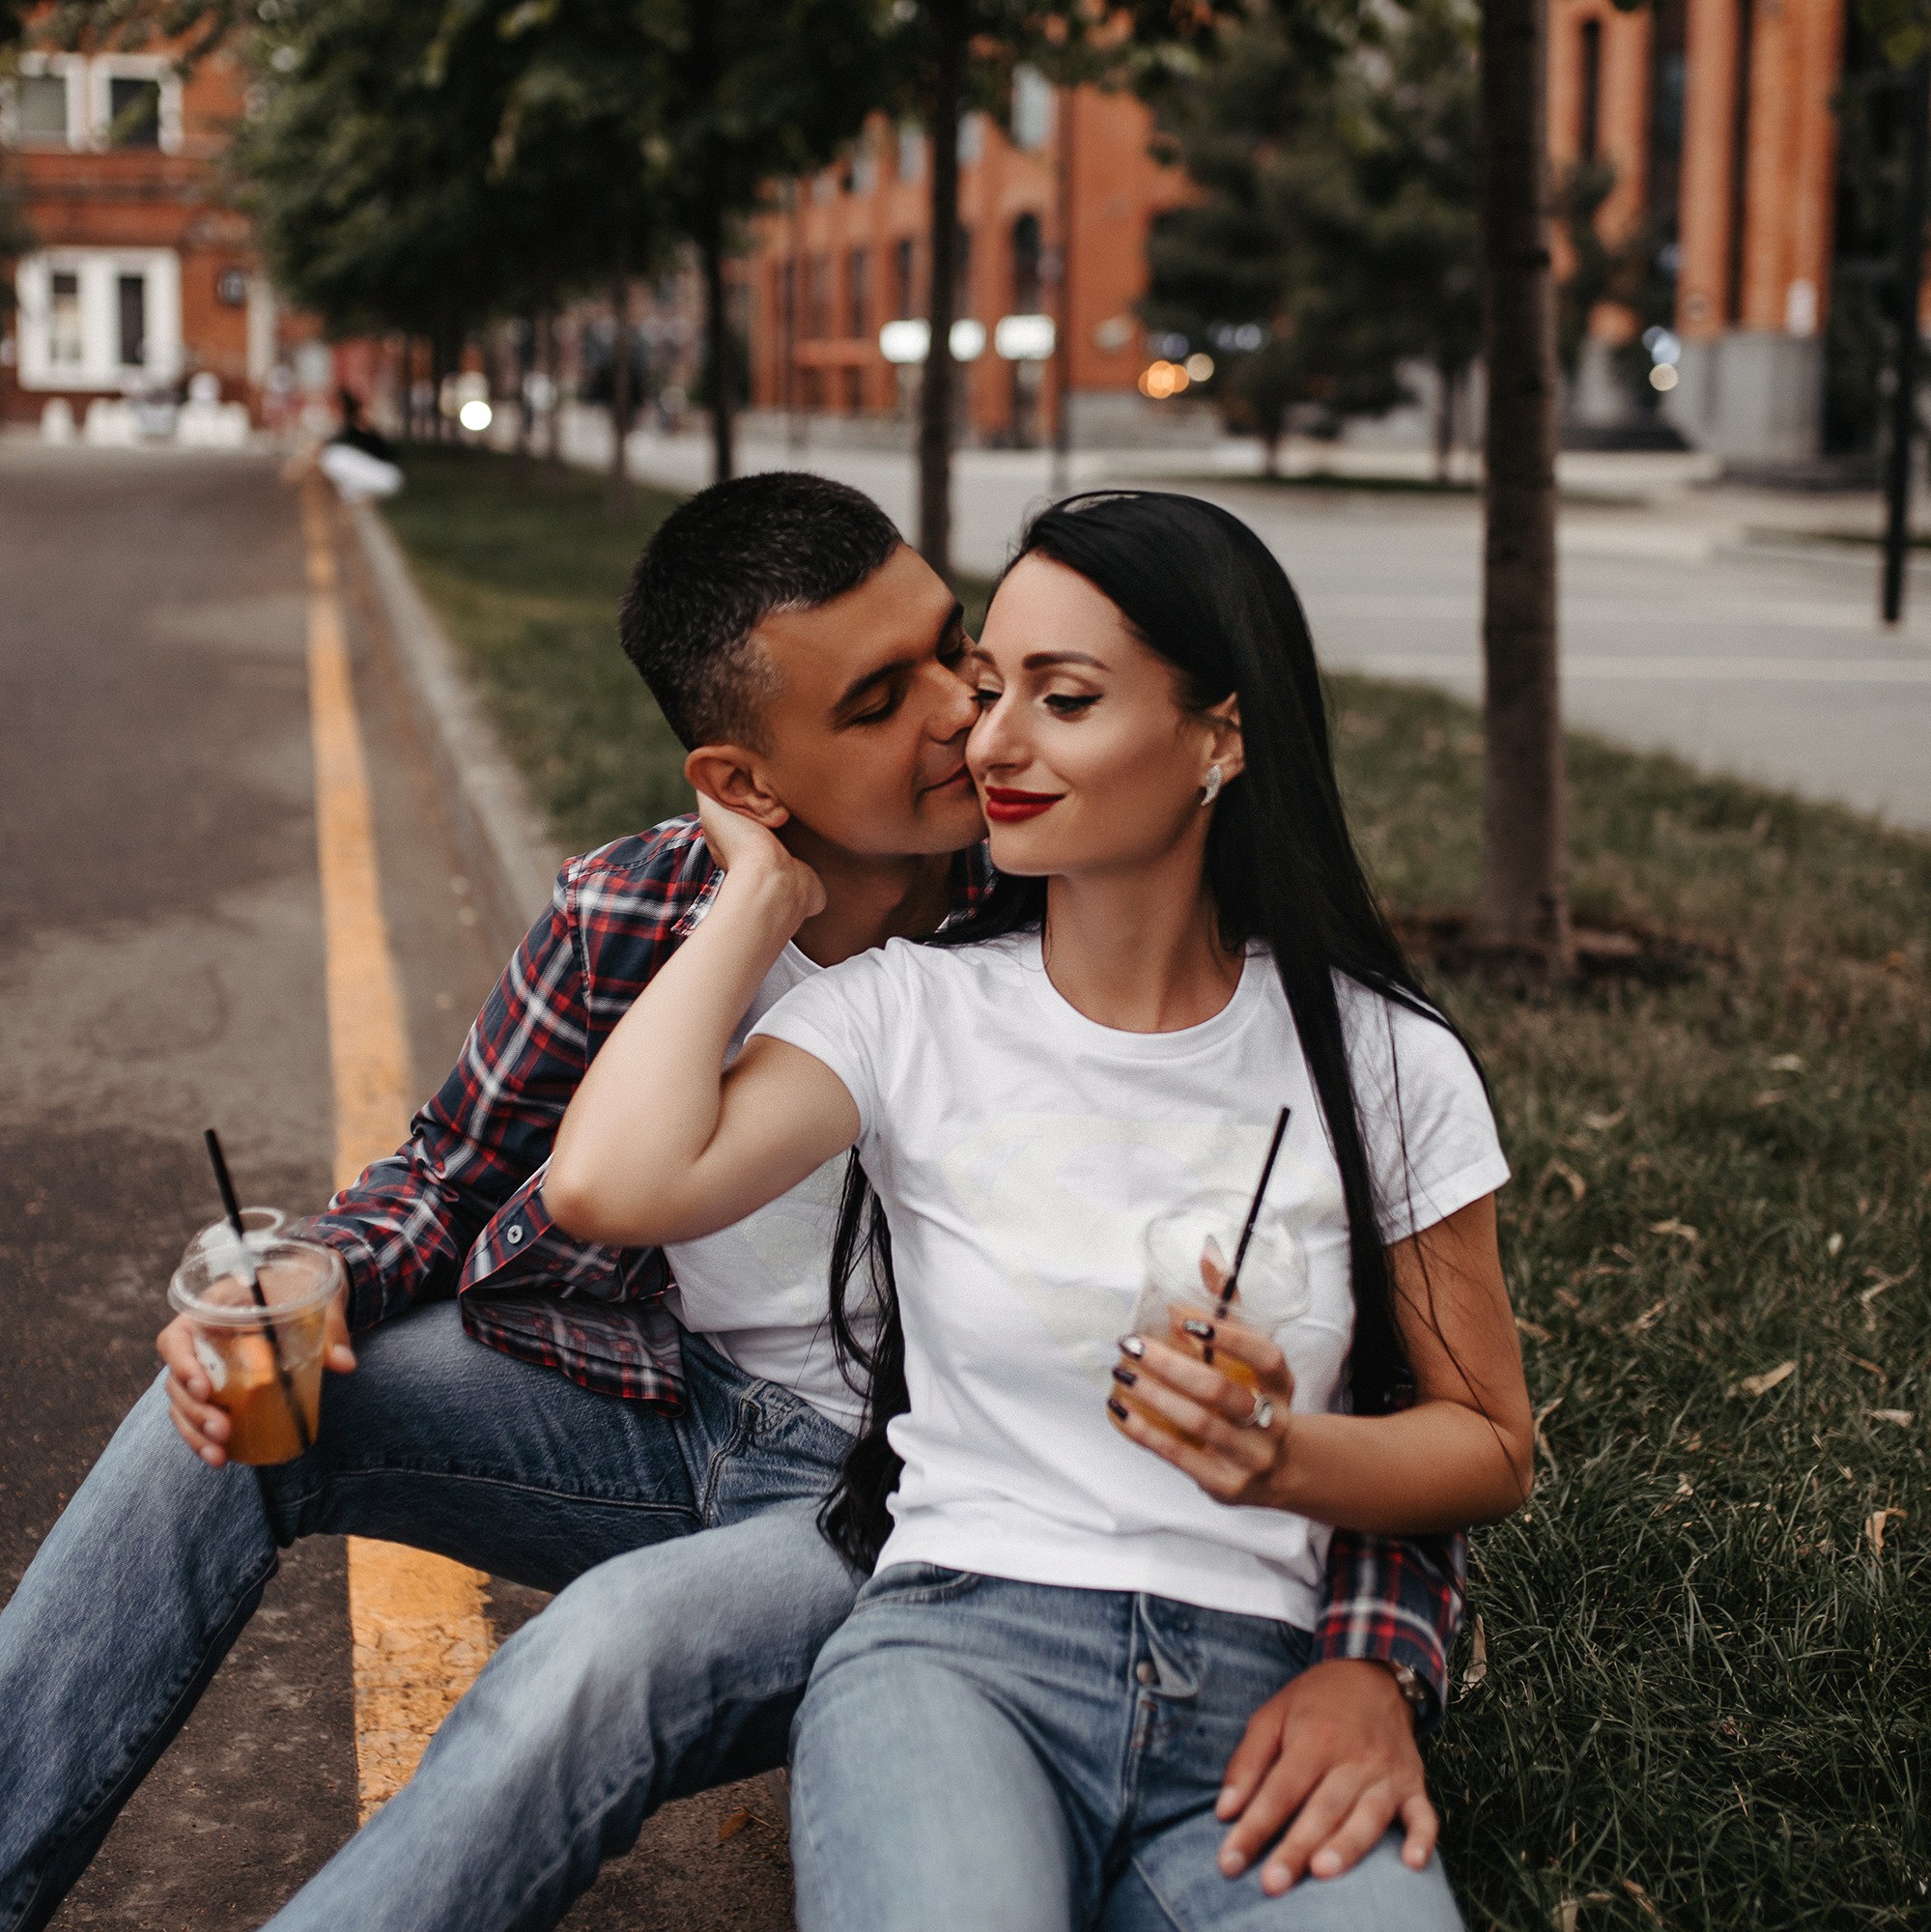
[{"label": "man's short dark hair with faded sides", "polygon": [[624,655],[684,742],[759,742],[774,672],[751,634],[857,589],[898,549],[865,495],[799,469],[713,483],[664,518],[618,612]]}]

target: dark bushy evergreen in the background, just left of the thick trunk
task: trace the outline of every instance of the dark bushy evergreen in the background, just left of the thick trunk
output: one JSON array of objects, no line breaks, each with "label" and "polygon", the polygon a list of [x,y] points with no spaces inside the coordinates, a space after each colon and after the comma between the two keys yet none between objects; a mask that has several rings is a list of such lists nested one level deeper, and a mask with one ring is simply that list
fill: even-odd
[{"label": "dark bushy evergreen in the background, just left of the thick trunk", "polygon": [[1437,460],[1481,338],[1473,17],[1249,8],[1161,100],[1201,199],[1157,224],[1143,313],[1213,346],[1228,417],[1274,468],[1290,410],[1323,423],[1439,379]]}]

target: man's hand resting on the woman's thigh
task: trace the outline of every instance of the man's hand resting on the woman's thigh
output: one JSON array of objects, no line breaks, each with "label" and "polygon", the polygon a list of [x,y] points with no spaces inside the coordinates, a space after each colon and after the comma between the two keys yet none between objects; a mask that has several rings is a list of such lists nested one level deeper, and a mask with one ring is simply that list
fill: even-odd
[{"label": "man's hand resting on the woman's thigh", "polygon": [[1228,1878],[1288,1828],[1261,1866],[1269,1897],[1303,1872],[1338,1878],[1396,1818],[1408,1828],[1402,1862],[1427,1864],[1441,1824],[1421,1776],[1413,1714],[1386,1665],[1315,1663],[1276,1690],[1247,1719],[1215,1816],[1238,1820],[1220,1845]]}]

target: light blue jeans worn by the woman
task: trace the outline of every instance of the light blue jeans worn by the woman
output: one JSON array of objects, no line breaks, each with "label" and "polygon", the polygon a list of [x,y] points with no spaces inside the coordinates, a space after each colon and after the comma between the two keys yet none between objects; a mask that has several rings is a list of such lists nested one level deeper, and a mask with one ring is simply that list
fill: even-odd
[{"label": "light blue jeans worn by the woman", "polygon": [[1220,1876],[1226,1762],[1307,1656],[1261,1617],[894,1565],[792,1727],[801,1932],[1458,1932],[1398,1833],[1278,1899]]}]

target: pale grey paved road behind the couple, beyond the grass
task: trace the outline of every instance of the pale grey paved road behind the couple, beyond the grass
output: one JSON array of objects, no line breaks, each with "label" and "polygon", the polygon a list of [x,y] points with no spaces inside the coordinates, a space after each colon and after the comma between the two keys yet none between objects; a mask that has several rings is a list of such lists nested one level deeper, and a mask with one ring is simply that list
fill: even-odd
[{"label": "pale grey paved road behind the couple, beyond the grass", "polygon": [[[709,475],[695,437],[637,435],[630,456],[639,477],[680,489]],[[911,462],[896,452],[747,442],[742,464],[842,477],[915,527]],[[1215,497],[1288,566],[1325,663],[1477,696],[1473,498],[1269,489],[1217,468],[1213,452],[1083,452],[1072,481],[1164,473]],[[1562,458],[1564,489],[1589,498],[1566,504],[1560,527],[1570,719],[1931,831],[1931,562],[1914,568],[1890,632],[1875,614],[1875,549],[1819,541],[1875,529],[1875,498],[1709,487],[1707,469],[1695,456]],[[1049,458],[966,452],[954,493],[958,560],[993,574],[1027,512],[1052,500]]]}]

